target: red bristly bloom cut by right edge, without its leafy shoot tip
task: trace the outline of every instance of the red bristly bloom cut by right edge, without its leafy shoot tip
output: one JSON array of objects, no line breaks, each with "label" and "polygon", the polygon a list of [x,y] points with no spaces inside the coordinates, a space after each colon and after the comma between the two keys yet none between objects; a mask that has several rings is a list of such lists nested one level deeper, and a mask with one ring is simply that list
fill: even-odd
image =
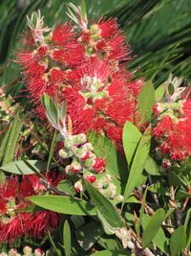
[{"label": "red bristly bloom cut by right edge, without its leafy shoot tip", "polygon": [[189,101],[156,106],[153,135],[161,153],[174,161],[183,160],[191,154]]}]

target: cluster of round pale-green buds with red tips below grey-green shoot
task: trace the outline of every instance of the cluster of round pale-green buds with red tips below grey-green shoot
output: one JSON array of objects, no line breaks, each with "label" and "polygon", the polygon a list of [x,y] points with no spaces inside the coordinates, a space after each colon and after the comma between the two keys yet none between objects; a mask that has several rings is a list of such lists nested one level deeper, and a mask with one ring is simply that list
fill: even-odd
[{"label": "cluster of round pale-green buds with red tips below grey-green shoot", "polygon": [[[88,142],[85,133],[68,134],[59,155],[64,159],[73,158],[72,163],[66,167],[68,175],[83,176],[90,183],[96,182],[96,174],[102,174],[105,171],[105,160],[96,156],[94,147]],[[82,191],[82,181],[75,182],[74,188],[77,192]]]}]

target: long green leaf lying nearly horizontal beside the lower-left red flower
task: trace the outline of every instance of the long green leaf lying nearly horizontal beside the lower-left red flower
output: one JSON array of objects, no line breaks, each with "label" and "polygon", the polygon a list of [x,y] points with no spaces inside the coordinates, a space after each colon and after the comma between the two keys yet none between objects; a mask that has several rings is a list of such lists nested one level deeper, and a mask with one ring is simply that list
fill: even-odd
[{"label": "long green leaf lying nearly horizontal beside the lower-left red flower", "polygon": [[96,215],[95,207],[81,199],[62,196],[33,196],[29,199],[42,208],[61,214]]}]

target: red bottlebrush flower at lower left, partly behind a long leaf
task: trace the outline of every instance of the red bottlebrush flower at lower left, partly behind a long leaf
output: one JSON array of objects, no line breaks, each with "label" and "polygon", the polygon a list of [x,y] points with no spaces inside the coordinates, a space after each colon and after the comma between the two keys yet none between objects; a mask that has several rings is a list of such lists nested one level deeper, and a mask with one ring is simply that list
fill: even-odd
[{"label": "red bottlebrush flower at lower left, partly behind a long leaf", "polygon": [[[48,174],[47,180],[57,185],[60,176]],[[23,236],[40,238],[57,227],[60,216],[56,213],[46,210],[25,212],[31,205],[27,197],[46,192],[47,187],[39,182],[37,175],[25,175],[21,182],[15,176],[7,178],[0,187],[0,243],[12,243]]]}]

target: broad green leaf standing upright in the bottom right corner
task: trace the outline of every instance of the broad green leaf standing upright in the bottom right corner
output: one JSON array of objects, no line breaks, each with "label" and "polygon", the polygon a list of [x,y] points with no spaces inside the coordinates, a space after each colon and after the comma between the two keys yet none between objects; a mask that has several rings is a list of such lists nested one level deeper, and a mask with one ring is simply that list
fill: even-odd
[{"label": "broad green leaf standing upright in the bottom right corner", "polygon": [[171,256],[178,256],[180,251],[186,246],[186,232],[185,227],[181,225],[172,234],[170,238],[170,252]]}]

